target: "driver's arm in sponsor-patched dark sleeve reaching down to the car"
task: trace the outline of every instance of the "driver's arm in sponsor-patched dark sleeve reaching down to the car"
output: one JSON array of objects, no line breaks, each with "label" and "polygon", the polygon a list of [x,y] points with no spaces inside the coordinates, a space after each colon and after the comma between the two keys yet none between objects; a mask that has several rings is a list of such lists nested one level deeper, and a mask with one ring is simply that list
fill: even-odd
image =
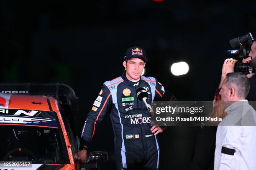
[{"label": "driver's arm in sponsor-patched dark sleeve reaching down to the car", "polygon": [[86,161],[87,147],[90,146],[92,138],[95,134],[96,126],[103,119],[107,113],[108,107],[110,107],[112,102],[110,90],[106,85],[103,85],[98,97],[92,105],[92,109],[87,115],[82,128],[82,133],[80,136],[80,146],[79,152],[75,155],[82,163]]}]

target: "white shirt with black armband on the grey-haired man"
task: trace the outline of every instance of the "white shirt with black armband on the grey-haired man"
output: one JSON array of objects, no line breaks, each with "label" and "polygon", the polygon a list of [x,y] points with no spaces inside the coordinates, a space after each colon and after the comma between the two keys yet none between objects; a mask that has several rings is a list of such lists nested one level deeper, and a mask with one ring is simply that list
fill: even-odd
[{"label": "white shirt with black armband on the grey-haired man", "polygon": [[[234,102],[218,125],[214,170],[256,170],[256,111],[247,100]],[[234,149],[234,155],[221,148]]]}]

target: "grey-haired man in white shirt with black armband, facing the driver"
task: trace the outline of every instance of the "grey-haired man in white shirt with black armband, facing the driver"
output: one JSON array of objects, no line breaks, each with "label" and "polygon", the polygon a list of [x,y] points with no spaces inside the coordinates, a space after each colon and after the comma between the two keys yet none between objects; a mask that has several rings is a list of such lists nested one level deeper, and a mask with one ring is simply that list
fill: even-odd
[{"label": "grey-haired man in white shirt with black armband, facing the driver", "polygon": [[255,170],[256,112],[245,100],[250,81],[241,72],[231,72],[220,88],[228,115],[218,125],[214,170]]}]

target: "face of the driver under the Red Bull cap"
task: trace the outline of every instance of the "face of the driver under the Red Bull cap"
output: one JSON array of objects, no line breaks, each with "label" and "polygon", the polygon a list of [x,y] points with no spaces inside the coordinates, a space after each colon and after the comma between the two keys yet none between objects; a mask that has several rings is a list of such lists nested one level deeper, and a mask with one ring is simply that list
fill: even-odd
[{"label": "face of the driver under the Red Bull cap", "polygon": [[127,62],[124,61],[123,66],[126,68],[126,77],[128,80],[138,80],[145,67],[145,62],[140,58],[131,58]]}]

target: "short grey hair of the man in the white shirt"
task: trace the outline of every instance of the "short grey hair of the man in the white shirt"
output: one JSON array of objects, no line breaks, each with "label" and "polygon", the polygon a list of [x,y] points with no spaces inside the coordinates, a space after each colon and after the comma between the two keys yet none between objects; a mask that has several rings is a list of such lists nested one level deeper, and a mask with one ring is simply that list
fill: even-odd
[{"label": "short grey hair of the man in the white shirt", "polygon": [[230,72],[227,74],[226,86],[236,89],[238,97],[247,97],[250,90],[250,80],[241,72]]}]

